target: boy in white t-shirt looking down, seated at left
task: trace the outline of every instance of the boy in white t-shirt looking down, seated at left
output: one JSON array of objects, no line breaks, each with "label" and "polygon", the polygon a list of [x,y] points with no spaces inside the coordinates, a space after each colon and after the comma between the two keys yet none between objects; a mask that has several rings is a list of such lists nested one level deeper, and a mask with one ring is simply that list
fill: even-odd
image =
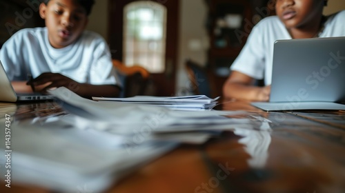
[{"label": "boy in white t-shirt looking down, seated at left", "polygon": [[[46,28],[19,30],[0,50],[17,92],[64,86],[80,96],[118,96],[108,45],[85,30],[94,0],[46,0],[39,6]],[[28,74],[32,74],[28,81]]]}]

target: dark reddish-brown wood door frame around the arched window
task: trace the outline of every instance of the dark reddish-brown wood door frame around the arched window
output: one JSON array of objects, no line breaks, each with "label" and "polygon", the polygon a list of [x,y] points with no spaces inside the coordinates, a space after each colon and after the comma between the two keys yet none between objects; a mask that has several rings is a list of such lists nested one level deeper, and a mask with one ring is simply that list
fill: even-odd
[{"label": "dark reddish-brown wood door frame around the arched window", "polygon": [[[123,56],[124,6],[137,0],[108,0],[108,39],[112,58],[119,61]],[[168,9],[166,26],[166,63],[164,73],[151,73],[157,96],[175,95],[177,74],[177,48],[179,32],[179,0],[151,0]]]}]

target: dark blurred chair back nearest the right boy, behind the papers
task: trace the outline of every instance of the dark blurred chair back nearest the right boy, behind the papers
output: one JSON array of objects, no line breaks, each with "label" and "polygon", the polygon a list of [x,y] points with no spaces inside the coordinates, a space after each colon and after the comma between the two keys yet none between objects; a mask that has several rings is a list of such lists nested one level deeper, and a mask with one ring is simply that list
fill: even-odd
[{"label": "dark blurred chair back nearest the right boy, behind the papers", "polygon": [[193,94],[204,94],[209,97],[217,97],[213,90],[214,83],[212,74],[210,74],[208,70],[190,59],[186,59],[185,67]]}]

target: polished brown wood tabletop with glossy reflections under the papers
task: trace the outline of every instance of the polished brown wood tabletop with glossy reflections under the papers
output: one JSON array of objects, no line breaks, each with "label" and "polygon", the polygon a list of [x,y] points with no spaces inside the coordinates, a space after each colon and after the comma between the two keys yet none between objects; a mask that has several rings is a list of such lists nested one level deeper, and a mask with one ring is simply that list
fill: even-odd
[{"label": "polished brown wood tabletop with glossy reflections under the papers", "polygon": [[[106,192],[345,192],[345,112],[264,112],[247,101],[217,108],[269,122],[226,130],[202,145],[181,144]],[[16,120],[67,114],[55,103],[1,103],[0,113]],[[0,192],[52,191],[14,181],[11,188],[1,182]]]}]

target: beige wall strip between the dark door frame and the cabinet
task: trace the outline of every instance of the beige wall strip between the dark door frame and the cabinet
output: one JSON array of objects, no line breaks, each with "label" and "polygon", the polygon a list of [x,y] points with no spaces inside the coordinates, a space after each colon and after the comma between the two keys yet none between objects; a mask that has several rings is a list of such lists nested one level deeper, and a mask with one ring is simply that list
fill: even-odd
[{"label": "beige wall strip between the dark door frame and the cabinet", "polygon": [[204,0],[181,0],[179,18],[179,50],[176,94],[188,94],[190,85],[184,62],[186,59],[206,64],[208,34],[205,28],[207,8]]}]

